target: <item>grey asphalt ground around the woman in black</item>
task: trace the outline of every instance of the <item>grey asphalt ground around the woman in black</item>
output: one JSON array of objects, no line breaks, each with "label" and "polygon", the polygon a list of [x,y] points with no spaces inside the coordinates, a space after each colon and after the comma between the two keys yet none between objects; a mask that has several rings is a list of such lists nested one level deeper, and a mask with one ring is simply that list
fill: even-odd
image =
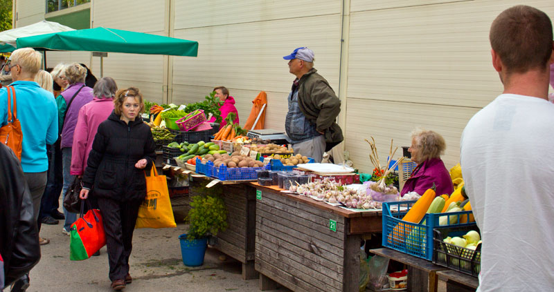
[{"label": "grey asphalt ground around the woman in black", "polygon": [[[69,260],[69,236],[62,233],[62,223],[42,224],[40,236],[50,243],[41,246],[42,258],[30,272],[27,291],[111,291],[106,247],[100,256]],[[177,220],[177,228],[136,229],[129,259],[133,282],[124,291],[260,291],[258,280],[242,280],[240,262],[215,249],[208,248],[202,266],[185,266],[178,237],[187,228]]]}]

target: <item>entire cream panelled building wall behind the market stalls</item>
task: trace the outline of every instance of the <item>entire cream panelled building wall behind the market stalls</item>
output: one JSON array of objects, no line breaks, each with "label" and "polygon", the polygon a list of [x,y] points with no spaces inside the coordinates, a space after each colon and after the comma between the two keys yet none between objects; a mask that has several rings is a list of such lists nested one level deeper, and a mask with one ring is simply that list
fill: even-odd
[{"label": "entire cream panelled building wall behind the market stalls", "polygon": [[[355,166],[370,172],[368,146],[377,140],[386,159],[390,139],[409,146],[415,126],[436,130],[447,142],[447,167],[459,159],[459,139],[467,121],[501,93],[490,64],[488,31],[494,17],[520,1],[500,0],[323,0],[313,1],[151,1],[95,0],[93,27],[170,35],[199,41],[198,57],[109,53],[104,75],[120,88],[137,86],[145,97],[170,102],[204,99],[214,86],[229,88],[242,123],[251,100],[268,96],[266,128],[283,130],[286,97],[294,75],[282,59],[309,46],[315,68],[346,96],[345,146]],[[34,23],[44,0],[18,1],[18,26]],[[527,1],[554,15],[553,1]],[[348,47],[343,48],[343,7]],[[44,15],[43,15],[44,16]],[[28,23],[26,22],[28,19]],[[25,23],[24,23],[25,22]],[[48,52],[48,64],[81,61],[100,75],[98,57],[88,52]],[[341,66],[345,75],[339,76]],[[339,80],[340,79],[340,80]],[[345,90],[346,89],[346,90]],[[401,153],[401,151],[400,151]],[[395,158],[399,153],[395,155]]]}]

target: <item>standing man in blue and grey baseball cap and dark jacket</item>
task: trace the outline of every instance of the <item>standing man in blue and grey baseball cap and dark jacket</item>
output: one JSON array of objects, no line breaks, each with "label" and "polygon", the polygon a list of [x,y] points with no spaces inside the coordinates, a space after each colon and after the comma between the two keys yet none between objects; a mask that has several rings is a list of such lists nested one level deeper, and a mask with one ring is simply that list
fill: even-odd
[{"label": "standing man in blue and grey baseball cap and dark jacket", "polygon": [[314,68],[314,51],[296,48],[290,55],[289,72],[296,76],[287,99],[289,111],[285,130],[292,140],[294,153],[321,162],[323,153],[343,141],[342,130],[335,122],[341,101],[328,81]]}]

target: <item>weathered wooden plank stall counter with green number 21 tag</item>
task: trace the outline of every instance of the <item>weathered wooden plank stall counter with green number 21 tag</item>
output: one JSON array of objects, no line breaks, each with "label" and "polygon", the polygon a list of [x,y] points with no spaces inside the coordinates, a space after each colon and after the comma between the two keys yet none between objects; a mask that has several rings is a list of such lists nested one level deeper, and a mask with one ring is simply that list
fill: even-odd
[{"label": "weathered wooden plank stall counter with green number 21 tag", "polygon": [[381,231],[381,212],[354,212],[256,186],[256,271],[260,290],[357,291],[364,233]]}]

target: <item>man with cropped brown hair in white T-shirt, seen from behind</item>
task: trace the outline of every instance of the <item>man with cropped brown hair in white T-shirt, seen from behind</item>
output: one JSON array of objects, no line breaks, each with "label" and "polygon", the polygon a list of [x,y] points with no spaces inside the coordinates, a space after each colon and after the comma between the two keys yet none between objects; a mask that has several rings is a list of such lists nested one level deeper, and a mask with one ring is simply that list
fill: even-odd
[{"label": "man with cropped brown hair in white T-shirt, seen from behind", "polygon": [[552,23],[515,6],[494,19],[489,37],[504,91],[461,139],[465,191],[483,240],[477,291],[546,291],[554,283]]}]

